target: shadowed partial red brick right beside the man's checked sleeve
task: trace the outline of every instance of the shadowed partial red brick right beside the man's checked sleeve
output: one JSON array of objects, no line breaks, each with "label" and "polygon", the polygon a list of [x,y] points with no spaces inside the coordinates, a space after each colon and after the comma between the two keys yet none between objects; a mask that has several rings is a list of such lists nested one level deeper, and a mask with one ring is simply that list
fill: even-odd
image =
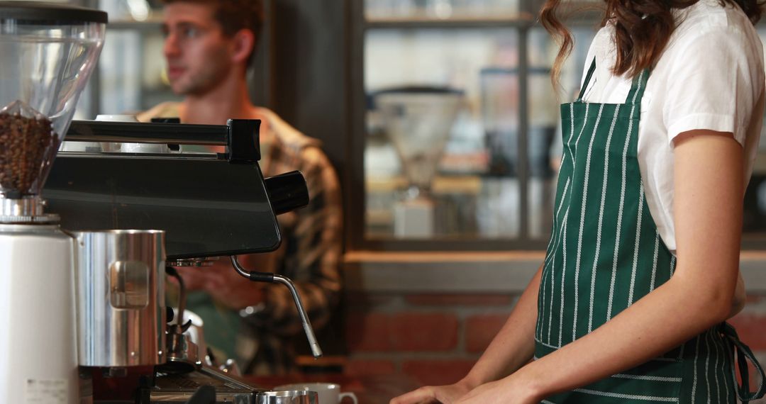
[{"label": "shadowed partial red brick right beside the man's checked sleeve", "polygon": [[350,352],[391,350],[391,318],[381,313],[352,313],[346,316],[345,337]]}]

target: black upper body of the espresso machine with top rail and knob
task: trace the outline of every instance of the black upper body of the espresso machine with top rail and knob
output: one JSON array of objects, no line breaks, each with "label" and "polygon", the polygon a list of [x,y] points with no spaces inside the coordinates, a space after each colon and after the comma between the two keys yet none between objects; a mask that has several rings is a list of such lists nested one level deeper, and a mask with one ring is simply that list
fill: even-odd
[{"label": "black upper body of the espresso machine with top rail and knob", "polygon": [[[297,171],[264,179],[260,121],[73,121],[66,142],[224,145],[224,153],[58,153],[42,197],[65,230],[165,230],[168,260],[277,249],[275,215],[308,204]],[[183,146],[181,146],[183,147]]]}]

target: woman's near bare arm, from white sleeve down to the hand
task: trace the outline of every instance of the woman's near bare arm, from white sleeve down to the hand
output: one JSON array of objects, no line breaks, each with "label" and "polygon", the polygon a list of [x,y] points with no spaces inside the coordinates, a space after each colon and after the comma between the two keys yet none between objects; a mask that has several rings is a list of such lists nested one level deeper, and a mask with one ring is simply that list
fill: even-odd
[{"label": "woman's near bare arm, from white sleeve down to the hand", "polygon": [[644,363],[725,320],[738,279],[742,155],[731,133],[679,135],[673,277],[591,334],[460,402],[539,402]]}]

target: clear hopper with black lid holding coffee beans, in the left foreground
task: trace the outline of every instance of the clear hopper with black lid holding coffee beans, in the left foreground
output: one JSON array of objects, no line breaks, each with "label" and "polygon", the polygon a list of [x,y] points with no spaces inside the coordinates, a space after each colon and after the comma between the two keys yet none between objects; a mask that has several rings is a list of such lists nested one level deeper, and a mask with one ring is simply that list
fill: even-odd
[{"label": "clear hopper with black lid holding coffee beans, in the left foreground", "polygon": [[105,31],[103,11],[0,2],[0,196],[40,194]]}]

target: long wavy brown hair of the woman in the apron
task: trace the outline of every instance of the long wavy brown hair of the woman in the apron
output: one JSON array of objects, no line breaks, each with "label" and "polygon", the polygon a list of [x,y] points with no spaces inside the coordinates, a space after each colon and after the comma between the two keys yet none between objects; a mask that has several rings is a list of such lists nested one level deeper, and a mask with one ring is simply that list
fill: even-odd
[{"label": "long wavy brown hair of the woman in the apron", "polygon": [[[722,5],[738,5],[755,24],[761,18],[759,0],[719,0]],[[561,65],[569,56],[574,44],[571,33],[559,20],[562,0],[548,0],[540,10],[540,21],[548,32],[561,41],[561,47],[553,65],[552,79],[558,80]],[[614,24],[614,43],[617,60],[614,74],[627,73],[634,77],[642,70],[652,67],[660,58],[670,34],[678,21],[673,18],[672,8],[686,8],[699,0],[604,0],[606,8],[601,27]]]}]

